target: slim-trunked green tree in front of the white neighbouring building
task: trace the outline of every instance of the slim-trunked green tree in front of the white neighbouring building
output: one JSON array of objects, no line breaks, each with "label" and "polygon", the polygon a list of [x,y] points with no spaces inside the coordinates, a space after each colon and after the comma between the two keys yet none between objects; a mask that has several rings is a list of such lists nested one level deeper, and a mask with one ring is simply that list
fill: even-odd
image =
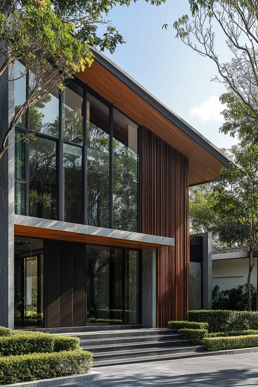
[{"label": "slim-trunked green tree in front of the white neighbouring building", "polygon": [[253,250],[258,244],[258,145],[233,146],[230,156],[235,164],[232,169],[222,169],[214,183],[213,207],[225,217],[236,219],[249,247],[247,289],[248,310],[251,310],[250,278],[254,266]]}]

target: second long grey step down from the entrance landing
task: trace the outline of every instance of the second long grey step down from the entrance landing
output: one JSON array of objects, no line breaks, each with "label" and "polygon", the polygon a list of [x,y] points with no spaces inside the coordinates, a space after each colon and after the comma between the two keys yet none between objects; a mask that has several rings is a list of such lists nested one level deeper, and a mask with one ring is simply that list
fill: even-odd
[{"label": "second long grey step down from the entrance landing", "polygon": [[115,337],[107,339],[82,339],[80,340],[80,346],[82,348],[91,347],[91,346],[103,346],[103,345],[118,345],[118,344],[127,344],[127,343],[137,343],[137,342],[148,342],[148,341],[165,341],[165,340],[175,340],[181,339],[179,334],[160,334],[160,335],[151,335],[151,336],[125,336],[125,337]]}]

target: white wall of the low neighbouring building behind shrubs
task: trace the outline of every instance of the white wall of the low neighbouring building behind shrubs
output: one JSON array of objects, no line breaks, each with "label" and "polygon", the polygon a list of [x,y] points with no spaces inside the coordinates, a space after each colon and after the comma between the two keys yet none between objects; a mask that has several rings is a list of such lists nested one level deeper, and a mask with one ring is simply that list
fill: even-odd
[{"label": "white wall of the low neighbouring building behind shrubs", "polygon": [[[221,255],[223,259],[214,259]],[[226,259],[226,253],[212,256],[212,288],[219,286],[219,291],[237,288],[244,285],[248,276],[248,257]],[[251,274],[251,284],[257,287],[257,258],[254,258],[254,267]]]}]

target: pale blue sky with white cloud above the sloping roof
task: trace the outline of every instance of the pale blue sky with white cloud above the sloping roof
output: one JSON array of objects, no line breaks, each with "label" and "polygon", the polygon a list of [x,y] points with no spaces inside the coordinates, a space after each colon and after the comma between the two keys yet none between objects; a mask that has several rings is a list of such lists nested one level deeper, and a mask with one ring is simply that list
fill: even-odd
[{"label": "pale blue sky with white cloud above the sloping roof", "polygon": [[[215,64],[175,38],[173,22],[183,14],[190,14],[188,0],[167,0],[160,7],[138,0],[129,8],[115,7],[108,19],[126,44],[113,55],[105,54],[217,147],[228,148],[236,139],[219,133],[223,122],[219,96],[226,90],[210,82]],[[162,30],[165,22],[167,31]],[[220,31],[218,36],[223,39]],[[230,59],[223,45],[219,49],[224,59]]]}]

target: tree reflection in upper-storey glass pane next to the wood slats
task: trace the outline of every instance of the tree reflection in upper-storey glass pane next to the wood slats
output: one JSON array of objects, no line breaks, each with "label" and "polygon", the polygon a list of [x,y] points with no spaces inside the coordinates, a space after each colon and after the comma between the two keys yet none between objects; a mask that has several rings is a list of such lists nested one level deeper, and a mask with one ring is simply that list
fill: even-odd
[{"label": "tree reflection in upper-storey glass pane next to the wood slats", "polygon": [[137,231],[137,154],[113,140],[113,226]]}]

